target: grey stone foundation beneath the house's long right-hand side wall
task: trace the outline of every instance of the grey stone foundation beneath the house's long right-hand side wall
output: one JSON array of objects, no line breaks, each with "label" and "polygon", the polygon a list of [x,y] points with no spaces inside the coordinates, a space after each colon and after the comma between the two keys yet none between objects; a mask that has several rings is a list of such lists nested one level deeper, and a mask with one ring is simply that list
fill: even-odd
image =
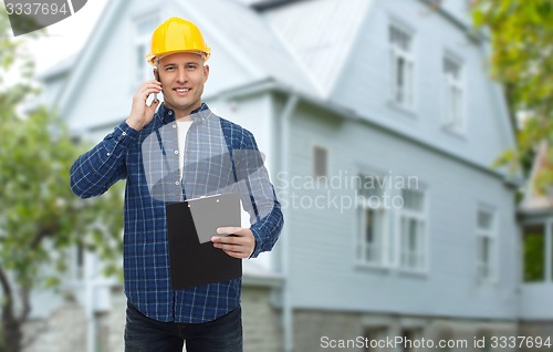
[{"label": "grey stone foundation beneath the house's long right-hand side wall", "polygon": [[[518,325],[514,321],[320,310],[294,311],[294,352],[476,351],[479,350],[474,346],[477,341],[480,346],[481,342],[490,343],[492,337],[517,337],[517,334]],[[396,339],[403,339],[403,342],[388,343],[397,341]],[[438,346],[440,341],[446,344],[444,349]],[[500,350],[520,351],[509,348]]]}]

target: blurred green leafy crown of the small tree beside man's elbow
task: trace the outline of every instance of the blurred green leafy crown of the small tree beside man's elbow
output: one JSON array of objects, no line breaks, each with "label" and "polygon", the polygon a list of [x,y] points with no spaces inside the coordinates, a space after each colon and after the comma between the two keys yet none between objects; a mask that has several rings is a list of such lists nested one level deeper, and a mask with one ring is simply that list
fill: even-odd
[{"label": "blurred green leafy crown of the small tree beside man's elbow", "polygon": [[36,282],[46,263],[65,269],[64,249],[74,245],[106,258],[121,249],[122,193],[91,200],[72,194],[69,170],[81,148],[52,116],[36,108],[0,121],[0,266],[24,286]]}]

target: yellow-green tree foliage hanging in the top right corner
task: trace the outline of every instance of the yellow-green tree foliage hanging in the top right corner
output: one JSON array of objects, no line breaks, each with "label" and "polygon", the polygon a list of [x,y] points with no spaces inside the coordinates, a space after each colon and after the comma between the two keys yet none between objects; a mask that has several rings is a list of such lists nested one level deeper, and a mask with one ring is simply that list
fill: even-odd
[{"label": "yellow-green tree foliage hanging in the top right corner", "polygon": [[[505,151],[498,165],[530,169],[540,143],[553,143],[553,2],[551,0],[472,0],[476,24],[489,30],[491,74],[503,83],[518,146]],[[520,117],[522,122],[519,122]],[[553,183],[553,148],[538,176],[545,190]]]}]

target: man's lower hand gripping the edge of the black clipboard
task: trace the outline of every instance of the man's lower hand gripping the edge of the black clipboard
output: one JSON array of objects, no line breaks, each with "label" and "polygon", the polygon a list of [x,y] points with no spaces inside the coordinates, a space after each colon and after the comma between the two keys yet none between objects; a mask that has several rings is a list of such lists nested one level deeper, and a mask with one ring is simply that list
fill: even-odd
[{"label": "man's lower hand gripping the edge of the black clipboard", "polygon": [[[249,228],[243,227],[219,227],[217,234],[225,237],[213,236],[213,247],[222,249],[227,255],[234,258],[250,258],[255,249],[255,238]],[[228,236],[232,235],[232,236]]]}]

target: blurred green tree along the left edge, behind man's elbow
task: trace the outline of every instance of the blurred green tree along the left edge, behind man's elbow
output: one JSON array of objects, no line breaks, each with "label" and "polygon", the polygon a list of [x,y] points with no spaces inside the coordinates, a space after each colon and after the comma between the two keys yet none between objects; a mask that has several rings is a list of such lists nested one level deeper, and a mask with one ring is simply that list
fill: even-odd
[{"label": "blurred green tree along the left edge, behind man's elbow", "polygon": [[96,250],[109,259],[106,271],[121,272],[122,191],[100,201],[72,194],[70,166],[83,147],[52,111],[22,108],[36,93],[24,39],[11,39],[0,13],[0,341],[7,352],[22,348],[32,290],[60,283],[75,246]]}]

